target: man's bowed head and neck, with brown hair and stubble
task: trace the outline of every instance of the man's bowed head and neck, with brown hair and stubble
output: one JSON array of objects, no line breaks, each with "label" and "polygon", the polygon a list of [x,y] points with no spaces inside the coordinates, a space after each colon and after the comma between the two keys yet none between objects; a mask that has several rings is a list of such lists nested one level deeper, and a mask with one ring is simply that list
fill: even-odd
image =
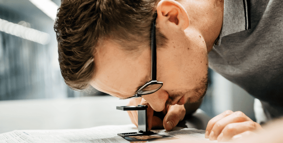
[{"label": "man's bowed head and neck, with brown hair and stubble", "polygon": [[[222,25],[222,21],[220,23],[217,20],[221,17],[221,14],[217,15],[219,8],[217,6],[214,9],[211,8],[211,5],[215,6],[215,3],[204,1],[180,1],[179,3],[173,0],[160,2],[129,0],[124,3],[115,1],[115,3],[122,3],[125,8],[134,7],[135,10],[132,11],[124,10],[121,5],[117,6],[111,0],[109,3],[105,1],[93,3],[88,1],[84,5],[77,6],[78,8],[76,7],[74,11],[80,11],[80,14],[73,14],[78,16],[77,18],[65,17],[66,21],[71,19],[69,23],[76,23],[74,27],[77,29],[73,26],[57,28],[61,24],[60,19],[62,23],[65,23],[65,20],[62,20],[64,18],[60,17],[64,16],[63,11],[67,12],[62,10],[65,8],[64,5],[58,13],[55,29],[57,28],[59,42],[59,62],[67,84],[68,82],[72,82],[73,85],[90,84],[100,91],[119,98],[134,95],[138,87],[150,80],[150,31],[157,13],[157,80],[162,81],[163,86],[157,92],[142,97],[155,111],[161,111],[165,104],[196,102],[204,95],[207,88],[208,49],[214,44]],[[112,8],[106,7],[105,3]],[[202,5],[204,3],[206,5]],[[89,8],[91,10],[85,10]],[[60,11],[62,11],[61,14]],[[91,20],[92,22],[89,22]],[[84,23],[90,24],[84,26]],[[81,34],[81,40],[73,44],[65,44],[65,39],[73,42],[68,37],[76,35],[73,31],[81,29],[85,29],[83,31],[86,36]],[[101,29],[103,29],[102,32]],[[66,35],[60,30],[70,32],[71,35]],[[80,47],[79,51],[74,51],[73,49],[77,47]],[[84,49],[90,50],[81,53],[80,51]],[[86,57],[88,60],[81,62],[75,58],[69,60],[71,57],[84,58],[84,54],[89,54],[88,52],[91,53],[90,58]],[[74,56],[76,54],[81,55]],[[81,68],[72,69],[74,67],[72,64],[80,64]],[[87,77],[85,82],[80,82],[79,75],[84,75],[80,73],[82,69],[89,69],[86,71],[89,75],[84,76]],[[81,88],[72,85],[71,87]]]}]

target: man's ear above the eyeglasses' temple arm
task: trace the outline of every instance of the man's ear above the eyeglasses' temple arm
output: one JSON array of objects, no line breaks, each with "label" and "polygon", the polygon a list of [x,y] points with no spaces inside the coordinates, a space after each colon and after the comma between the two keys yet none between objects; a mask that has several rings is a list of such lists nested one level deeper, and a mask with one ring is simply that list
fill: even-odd
[{"label": "man's ear above the eyeglasses' temple arm", "polygon": [[161,0],[157,4],[159,22],[171,22],[185,30],[189,26],[189,18],[184,7],[174,0]]}]

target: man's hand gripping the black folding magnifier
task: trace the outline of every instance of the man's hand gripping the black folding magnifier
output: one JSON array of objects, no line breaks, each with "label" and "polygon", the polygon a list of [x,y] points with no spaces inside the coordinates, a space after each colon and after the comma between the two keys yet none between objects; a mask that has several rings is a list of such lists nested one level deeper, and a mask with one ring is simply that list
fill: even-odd
[{"label": "man's hand gripping the black folding magnifier", "polygon": [[[161,112],[155,112],[151,106],[143,98],[131,99],[128,106],[138,106],[147,105],[147,120],[148,120],[148,130],[152,128],[165,128],[170,131],[175,127],[179,121],[183,120],[186,114],[184,105],[166,105],[165,109]],[[138,111],[128,111],[130,119],[133,124],[138,127]],[[164,117],[164,119],[163,119]]]}]

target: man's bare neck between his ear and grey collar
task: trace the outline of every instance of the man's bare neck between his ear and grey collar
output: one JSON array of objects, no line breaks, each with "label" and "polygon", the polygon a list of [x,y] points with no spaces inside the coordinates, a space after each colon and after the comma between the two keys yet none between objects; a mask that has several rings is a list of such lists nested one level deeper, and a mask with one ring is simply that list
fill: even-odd
[{"label": "man's bare neck between his ear and grey collar", "polygon": [[210,52],[221,32],[224,0],[184,0],[180,3],[188,13],[190,26],[202,34]]}]

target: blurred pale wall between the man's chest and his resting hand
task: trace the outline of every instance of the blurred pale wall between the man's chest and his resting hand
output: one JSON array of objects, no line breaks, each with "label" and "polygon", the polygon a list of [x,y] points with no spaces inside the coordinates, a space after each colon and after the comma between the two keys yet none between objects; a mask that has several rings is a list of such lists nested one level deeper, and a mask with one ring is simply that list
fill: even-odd
[{"label": "blurred pale wall between the man's chest and his resting hand", "polygon": [[210,116],[214,117],[226,110],[242,111],[255,121],[253,96],[216,72],[211,72],[211,78]]}]

